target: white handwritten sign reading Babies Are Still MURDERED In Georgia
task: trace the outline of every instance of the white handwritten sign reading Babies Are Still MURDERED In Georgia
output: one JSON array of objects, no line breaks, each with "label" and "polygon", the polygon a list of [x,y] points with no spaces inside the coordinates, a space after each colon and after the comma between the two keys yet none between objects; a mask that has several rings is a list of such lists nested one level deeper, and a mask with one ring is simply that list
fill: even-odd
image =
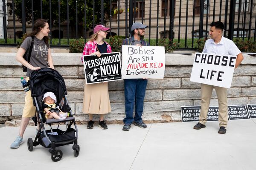
[{"label": "white handwritten sign reading Babies Are Still MURDERED In Georgia", "polygon": [[122,79],[163,79],[164,47],[122,45]]}]

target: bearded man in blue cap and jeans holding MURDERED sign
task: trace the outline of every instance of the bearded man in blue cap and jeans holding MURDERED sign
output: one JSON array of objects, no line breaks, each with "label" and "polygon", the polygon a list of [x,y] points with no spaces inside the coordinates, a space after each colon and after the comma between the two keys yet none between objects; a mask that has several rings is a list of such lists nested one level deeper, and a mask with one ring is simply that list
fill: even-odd
[{"label": "bearded man in blue cap and jeans holding MURDERED sign", "polygon": [[[149,43],[143,40],[147,27],[142,23],[134,23],[131,26],[132,37],[123,40],[122,45],[149,46]],[[147,79],[125,79],[125,125],[122,130],[130,130],[133,122],[140,128],[147,127],[141,119],[147,82]],[[134,106],[135,116],[133,117]]]}]

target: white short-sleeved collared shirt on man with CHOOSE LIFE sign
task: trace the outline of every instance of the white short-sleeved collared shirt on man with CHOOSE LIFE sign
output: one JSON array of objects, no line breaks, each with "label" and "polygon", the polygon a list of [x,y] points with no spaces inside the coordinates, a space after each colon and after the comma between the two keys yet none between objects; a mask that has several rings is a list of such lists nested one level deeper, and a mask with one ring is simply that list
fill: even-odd
[{"label": "white short-sleeved collared shirt on man with CHOOSE LIFE sign", "polygon": [[202,53],[237,56],[241,51],[232,40],[221,36],[218,44],[212,39],[206,40]]}]

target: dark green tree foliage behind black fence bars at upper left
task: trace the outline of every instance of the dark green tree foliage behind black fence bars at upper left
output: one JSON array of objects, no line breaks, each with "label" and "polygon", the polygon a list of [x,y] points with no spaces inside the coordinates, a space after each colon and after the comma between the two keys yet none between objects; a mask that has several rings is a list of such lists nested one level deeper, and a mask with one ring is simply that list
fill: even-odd
[{"label": "dark green tree foliage behind black fence bars at upper left", "polygon": [[[22,23],[22,10],[21,1],[14,0],[15,6],[15,16],[17,20]],[[67,0],[51,0],[51,10],[52,10],[52,24],[58,24],[58,1],[60,1],[60,21],[64,23],[67,20]],[[101,23],[101,1],[95,1],[95,25]],[[69,20],[70,26],[76,26],[76,0],[69,0]],[[7,3],[9,6],[9,14],[12,14],[12,3]],[[104,24],[108,22],[109,19],[109,1],[104,1]],[[50,6],[49,0],[42,0],[42,11],[43,18],[50,19]],[[31,0],[25,0],[25,12],[26,12],[26,22],[32,23],[32,2]],[[41,5],[39,0],[33,0],[33,14],[34,20],[41,18]],[[84,26],[84,0],[77,1],[77,15],[78,23]],[[86,28],[93,27],[93,0],[86,0]]]}]

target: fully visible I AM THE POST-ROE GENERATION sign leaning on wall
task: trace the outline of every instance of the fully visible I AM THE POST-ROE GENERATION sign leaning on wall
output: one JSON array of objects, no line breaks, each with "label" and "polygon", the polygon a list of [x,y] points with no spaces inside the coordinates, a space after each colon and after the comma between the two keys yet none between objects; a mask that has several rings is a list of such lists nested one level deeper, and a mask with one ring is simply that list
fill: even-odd
[{"label": "fully visible I AM THE POST-ROE GENERATION sign leaning on wall", "polygon": [[230,120],[249,119],[245,105],[228,106],[227,109]]}]

